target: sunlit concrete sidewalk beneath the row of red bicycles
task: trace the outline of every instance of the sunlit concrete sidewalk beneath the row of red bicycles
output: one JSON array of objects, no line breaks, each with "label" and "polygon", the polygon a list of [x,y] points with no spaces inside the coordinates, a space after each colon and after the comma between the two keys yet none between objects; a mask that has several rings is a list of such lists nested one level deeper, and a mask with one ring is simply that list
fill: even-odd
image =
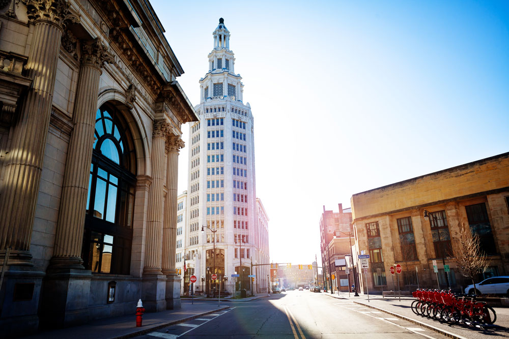
[{"label": "sunlit concrete sidewalk beneath the row of red bicycles", "polygon": [[[497,320],[495,325],[487,326],[486,328],[477,328],[475,326],[468,326],[466,324],[455,324],[448,325],[433,320],[427,317],[421,317],[414,314],[411,310],[411,303],[415,298],[413,297],[401,297],[394,298],[393,296],[382,298],[381,295],[370,295],[370,301],[367,301],[367,295],[359,294],[358,297],[354,297],[353,293],[348,296],[348,293],[340,292],[337,294],[322,293],[330,297],[350,300],[358,304],[362,304],[368,307],[375,308],[379,311],[385,312],[397,318],[405,319],[416,324],[425,325],[425,327],[434,330],[436,332],[442,332],[442,334],[450,337],[457,338],[483,338],[486,336],[501,336],[509,337],[509,308],[507,307],[493,307],[497,314]],[[453,334],[453,335],[449,335]]]}]

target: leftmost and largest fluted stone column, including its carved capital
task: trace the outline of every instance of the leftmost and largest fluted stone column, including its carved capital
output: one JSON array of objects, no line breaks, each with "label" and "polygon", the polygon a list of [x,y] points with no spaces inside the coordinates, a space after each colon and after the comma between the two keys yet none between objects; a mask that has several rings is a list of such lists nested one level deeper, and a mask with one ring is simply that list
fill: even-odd
[{"label": "leftmost and largest fluted stone column, including its carved capital", "polygon": [[32,87],[14,127],[0,204],[0,249],[12,246],[11,265],[28,265],[39,183],[46,148],[56,63],[64,20],[77,22],[65,0],[38,0],[27,5],[34,23],[33,44],[26,64]]}]

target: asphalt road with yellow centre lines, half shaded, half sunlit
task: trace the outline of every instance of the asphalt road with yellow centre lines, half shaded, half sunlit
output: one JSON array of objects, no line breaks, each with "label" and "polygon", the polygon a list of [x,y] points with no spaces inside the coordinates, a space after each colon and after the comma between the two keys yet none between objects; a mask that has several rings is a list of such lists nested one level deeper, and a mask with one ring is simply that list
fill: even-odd
[{"label": "asphalt road with yellow centre lines, half shaded, half sunlit", "polygon": [[445,336],[349,300],[289,291],[137,336],[182,338],[437,338]]}]

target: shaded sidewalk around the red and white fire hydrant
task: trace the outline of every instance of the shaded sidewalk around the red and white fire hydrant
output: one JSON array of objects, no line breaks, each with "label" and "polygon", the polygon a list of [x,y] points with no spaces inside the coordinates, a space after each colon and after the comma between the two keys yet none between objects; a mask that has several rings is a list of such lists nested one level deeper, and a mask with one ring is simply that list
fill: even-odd
[{"label": "shaded sidewalk around the red and white fire hydrant", "polygon": [[174,325],[200,318],[204,315],[215,313],[220,310],[229,309],[230,306],[218,306],[217,303],[205,304],[188,302],[182,303],[180,310],[167,310],[163,312],[146,313],[143,315],[143,326],[136,327],[136,316],[133,310],[132,315],[121,317],[96,319],[89,324],[74,326],[63,329],[41,331],[37,334],[25,336],[26,339],[109,339],[129,338],[145,334],[161,327]]}]

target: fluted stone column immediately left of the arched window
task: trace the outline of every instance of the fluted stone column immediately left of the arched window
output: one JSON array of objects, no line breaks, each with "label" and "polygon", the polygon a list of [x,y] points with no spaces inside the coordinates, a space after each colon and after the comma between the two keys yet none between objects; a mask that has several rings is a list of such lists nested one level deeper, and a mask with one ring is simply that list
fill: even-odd
[{"label": "fluted stone column immediately left of the arched window", "polygon": [[74,129],[67,152],[51,268],[83,268],[81,244],[87,209],[99,78],[103,63],[113,62],[112,55],[97,39],[84,44],[81,55],[73,112]]}]

